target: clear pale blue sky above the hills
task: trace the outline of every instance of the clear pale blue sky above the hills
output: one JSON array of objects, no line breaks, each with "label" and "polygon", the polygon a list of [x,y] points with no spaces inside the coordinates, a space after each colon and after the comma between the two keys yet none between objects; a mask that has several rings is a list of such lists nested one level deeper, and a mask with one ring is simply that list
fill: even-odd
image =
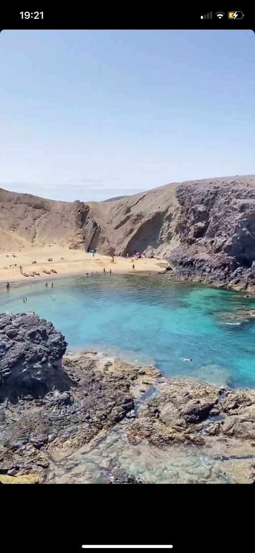
[{"label": "clear pale blue sky above the hills", "polygon": [[0,186],[103,200],[255,173],[255,35],[4,30]]}]

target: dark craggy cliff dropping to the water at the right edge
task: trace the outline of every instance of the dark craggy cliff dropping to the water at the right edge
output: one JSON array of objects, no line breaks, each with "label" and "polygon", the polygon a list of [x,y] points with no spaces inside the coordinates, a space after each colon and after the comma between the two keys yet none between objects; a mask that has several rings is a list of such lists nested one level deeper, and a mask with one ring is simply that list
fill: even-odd
[{"label": "dark craggy cliff dropping to the water at the right edge", "polygon": [[255,191],[251,176],[183,182],[172,278],[253,289]]}]

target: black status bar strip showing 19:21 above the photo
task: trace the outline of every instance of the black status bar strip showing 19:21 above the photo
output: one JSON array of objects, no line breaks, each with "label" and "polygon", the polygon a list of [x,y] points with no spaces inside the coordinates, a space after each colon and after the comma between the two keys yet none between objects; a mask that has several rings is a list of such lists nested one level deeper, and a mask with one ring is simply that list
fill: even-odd
[{"label": "black status bar strip showing 19:21 above the photo", "polygon": [[[39,2],[40,3],[40,2]],[[53,3],[52,3],[53,4]],[[231,3],[230,3],[231,4]],[[15,4],[17,6],[17,4]],[[95,7],[93,7],[95,6]],[[234,6],[235,7],[235,6]],[[203,6],[202,9],[191,5],[182,9],[171,5],[166,9],[158,6],[158,9],[140,9],[132,6],[130,3],[124,3],[117,7],[117,4],[100,4],[97,6],[92,3],[59,4],[59,7],[43,7],[36,3],[36,6],[13,7],[12,3],[0,8],[0,30],[1,29],[252,29],[255,32],[255,8],[242,7],[243,18],[230,20],[228,12],[232,6],[220,6],[224,17],[219,19],[216,12],[219,8],[211,9],[211,6]],[[206,9],[207,8],[207,9]],[[43,19],[22,19],[20,12],[35,11],[43,12]],[[201,16],[206,11],[203,19]],[[210,17],[212,15],[212,18]]]}]

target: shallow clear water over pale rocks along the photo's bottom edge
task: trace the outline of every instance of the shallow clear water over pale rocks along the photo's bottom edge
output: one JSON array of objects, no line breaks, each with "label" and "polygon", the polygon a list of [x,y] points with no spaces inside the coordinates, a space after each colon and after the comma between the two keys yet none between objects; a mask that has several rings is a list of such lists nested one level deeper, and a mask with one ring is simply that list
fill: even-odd
[{"label": "shallow clear water over pale rocks along the photo's bottom edge", "polygon": [[[126,420],[117,424],[96,444],[76,452],[52,453],[46,483],[102,484],[115,470],[134,474],[155,484],[251,483],[254,452],[230,455],[224,444],[211,447],[171,445],[158,448],[142,442],[132,445],[126,436]],[[240,447],[240,446],[239,446]],[[235,452],[235,448],[233,448]]]}]

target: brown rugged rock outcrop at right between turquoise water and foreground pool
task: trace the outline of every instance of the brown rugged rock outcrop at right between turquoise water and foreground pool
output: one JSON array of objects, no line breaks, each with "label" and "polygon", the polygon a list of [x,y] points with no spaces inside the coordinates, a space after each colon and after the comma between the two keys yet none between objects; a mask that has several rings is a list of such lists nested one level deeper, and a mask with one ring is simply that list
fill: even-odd
[{"label": "brown rugged rock outcrop at right between turquoise water and foreground pool", "polygon": [[146,439],[156,446],[202,446],[208,435],[255,441],[255,393],[165,379],[157,395],[141,406],[127,435],[133,443]]}]

